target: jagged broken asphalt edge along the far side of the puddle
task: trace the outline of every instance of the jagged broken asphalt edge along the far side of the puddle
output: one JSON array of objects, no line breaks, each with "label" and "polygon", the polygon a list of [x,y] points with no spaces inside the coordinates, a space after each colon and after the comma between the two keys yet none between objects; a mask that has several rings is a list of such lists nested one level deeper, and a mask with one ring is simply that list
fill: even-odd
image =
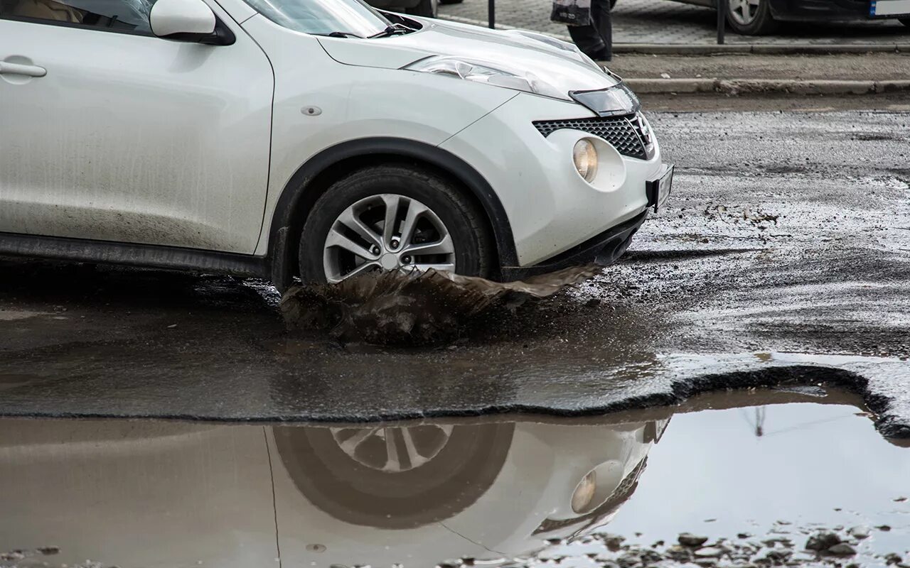
[{"label": "jagged broken asphalt edge along the far side of the puddle", "polygon": [[697,394],[723,390],[774,388],[780,386],[822,386],[835,387],[858,394],[864,404],[875,414],[875,429],[885,438],[910,440],[910,417],[891,413],[892,402],[883,394],[876,394],[869,388],[869,380],[863,375],[818,364],[773,365],[728,373],[712,373],[696,376],[676,377],[666,390],[649,394],[637,394],[617,399],[608,404],[591,404],[581,407],[556,407],[546,404],[480,404],[470,407],[430,408],[421,410],[384,410],[375,414],[263,414],[229,416],[213,414],[148,414],[148,413],[104,413],[104,412],[30,412],[2,410],[3,418],[79,418],[79,419],[149,419],[201,421],[210,423],[346,423],[368,424],[376,422],[420,420],[430,418],[477,417],[499,414],[537,414],[554,417],[583,417],[611,414],[623,411],[642,410],[652,407],[666,407],[682,404]]}]

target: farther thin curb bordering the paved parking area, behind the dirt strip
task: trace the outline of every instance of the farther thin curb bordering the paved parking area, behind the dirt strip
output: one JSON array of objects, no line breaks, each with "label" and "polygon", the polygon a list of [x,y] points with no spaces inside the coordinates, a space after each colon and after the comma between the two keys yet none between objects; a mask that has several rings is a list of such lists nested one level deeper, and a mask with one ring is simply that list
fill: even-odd
[{"label": "farther thin curb bordering the paved parking area, behind the dirt strip", "polygon": [[667,45],[613,44],[614,54],[639,55],[832,55],[869,53],[910,53],[910,44],[838,44],[838,45]]}]

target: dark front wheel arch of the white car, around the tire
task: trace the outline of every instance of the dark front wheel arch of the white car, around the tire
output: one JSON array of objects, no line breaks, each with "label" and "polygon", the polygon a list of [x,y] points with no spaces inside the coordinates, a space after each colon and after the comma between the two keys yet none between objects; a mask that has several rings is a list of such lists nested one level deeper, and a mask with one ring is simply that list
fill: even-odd
[{"label": "dark front wheel arch of the white car, around the tire", "polygon": [[448,174],[480,205],[493,235],[494,270],[518,263],[511,224],[500,198],[480,173],[458,156],[430,144],[401,138],[363,138],[331,146],[311,157],[291,175],[278,197],[268,228],[271,279],[286,290],[296,274],[303,223],[319,197],[354,167],[410,162]]}]

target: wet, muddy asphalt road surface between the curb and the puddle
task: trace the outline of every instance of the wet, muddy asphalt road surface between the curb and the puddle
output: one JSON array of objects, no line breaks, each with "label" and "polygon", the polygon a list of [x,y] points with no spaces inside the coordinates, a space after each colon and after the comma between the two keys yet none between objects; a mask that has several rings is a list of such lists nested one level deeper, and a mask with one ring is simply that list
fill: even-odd
[{"label": "wet, muddy asphalt road surface between the curb and the puddle", "polygon": [[591,414],[795,382],[863,394],[910,437],[908,123],[655,113],[675,193],[622,262],[436,349],[288,334],[255,281],[4,261],[0,414]]}]

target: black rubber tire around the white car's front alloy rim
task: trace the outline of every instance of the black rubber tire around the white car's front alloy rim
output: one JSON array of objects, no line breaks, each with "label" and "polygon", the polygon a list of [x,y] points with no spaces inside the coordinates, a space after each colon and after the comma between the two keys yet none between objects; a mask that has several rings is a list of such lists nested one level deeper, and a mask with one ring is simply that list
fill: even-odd
[{"label": "black rubber tire around the white car's front alloy rim", "polygon": [[319,197],[300,233],[298,263],[303,282],[327,282],[322,258],[332,224],[350,205],[378,194],[400,194],[430,207],[449,230],[458,274],[490,276],[492,239],[480,208],[440,174],[395,164],[358,170],[332,184]]}]

